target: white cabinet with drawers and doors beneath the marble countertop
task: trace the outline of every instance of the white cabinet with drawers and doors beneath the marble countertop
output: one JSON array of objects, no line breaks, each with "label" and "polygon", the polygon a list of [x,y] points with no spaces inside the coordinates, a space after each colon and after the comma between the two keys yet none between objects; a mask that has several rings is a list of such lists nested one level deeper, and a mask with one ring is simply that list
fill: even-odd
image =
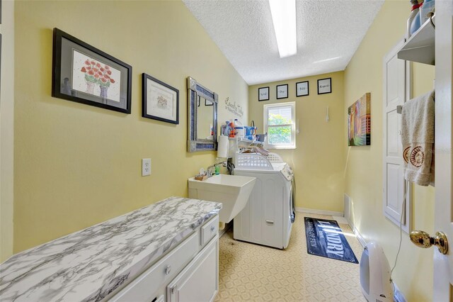
[{"label": "white cabinet with drawers and doors beneath the marble countertop", "polygon": [[216,215],[110,301],[213,301],[219,289],[218,230]]}]

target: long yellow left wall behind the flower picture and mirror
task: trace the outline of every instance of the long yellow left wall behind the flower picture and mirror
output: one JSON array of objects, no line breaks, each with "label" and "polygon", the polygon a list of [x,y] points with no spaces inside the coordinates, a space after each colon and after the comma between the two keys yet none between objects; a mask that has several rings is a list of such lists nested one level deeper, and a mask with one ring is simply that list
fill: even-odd
[{"label": "long yellow left wall behind the flower picture and mirror", "polygon": [[[55,27],[132,65],[132,114],[50,96]],[[17,1],[15,34],[14,252],[187,196],[215,160],[186,152],[188,76],[247,116],[246,82],[181,1]],[[142,72],[179,89],[179,125],[141,117]]]}]

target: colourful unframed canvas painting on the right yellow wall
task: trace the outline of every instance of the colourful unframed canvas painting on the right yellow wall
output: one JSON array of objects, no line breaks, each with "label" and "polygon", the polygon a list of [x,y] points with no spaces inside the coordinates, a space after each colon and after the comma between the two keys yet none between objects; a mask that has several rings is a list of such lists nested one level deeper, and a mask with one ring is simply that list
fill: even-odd
[{"label": "colourful unframed canvas painting on the right yellow wall", "polygon": [[371,145],[371,94],[367,92],[348,108],[348,146]]}]

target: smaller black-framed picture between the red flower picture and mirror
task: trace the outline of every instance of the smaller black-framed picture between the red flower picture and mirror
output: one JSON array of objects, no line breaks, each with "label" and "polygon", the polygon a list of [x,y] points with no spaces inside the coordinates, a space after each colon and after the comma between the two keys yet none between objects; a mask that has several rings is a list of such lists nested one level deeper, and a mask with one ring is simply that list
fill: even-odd
[{"label": "smaller black-framed picture between the red flower picture and mirror", "polygon": [[142,117],[179,124],[179,90],[142,74]]}]

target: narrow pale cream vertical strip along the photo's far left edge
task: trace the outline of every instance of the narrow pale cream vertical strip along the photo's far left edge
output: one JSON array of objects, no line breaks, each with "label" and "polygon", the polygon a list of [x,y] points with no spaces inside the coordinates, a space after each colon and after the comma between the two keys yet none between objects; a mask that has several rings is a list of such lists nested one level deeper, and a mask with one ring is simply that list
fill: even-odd
[{"label": "narrow pale cream vertical strip along the photo's far left edge", "polygon": [[13,254],[14,1],[1,14],[0,262]]}]

